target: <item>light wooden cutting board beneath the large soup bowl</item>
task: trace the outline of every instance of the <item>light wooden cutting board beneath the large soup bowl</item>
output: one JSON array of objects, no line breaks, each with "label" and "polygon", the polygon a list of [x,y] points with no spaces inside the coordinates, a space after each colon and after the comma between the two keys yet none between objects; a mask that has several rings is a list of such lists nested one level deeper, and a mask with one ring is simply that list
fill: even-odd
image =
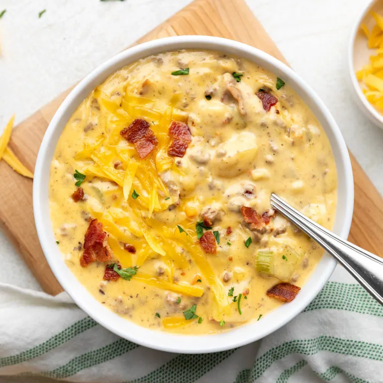
[{"label": "light wooden cutting board beneath the large soup bowl", "polygon": [[[244,0],[195,0],[153,29],[137,43],[160,37],[200,34],[226,37],[253,45],[286,63]],[[13,131],[9,144],[29,169],[34,168],[45,130],[69,90],[45,105]],[[355,158],[355,206],[349,240],[383,257],[383,199]],[[38,242],[32,211],[32,181],[0,162],[0,225],[41,287],[49,294],[62,291]],[[342,196],[341,196],[342,198]]]}]

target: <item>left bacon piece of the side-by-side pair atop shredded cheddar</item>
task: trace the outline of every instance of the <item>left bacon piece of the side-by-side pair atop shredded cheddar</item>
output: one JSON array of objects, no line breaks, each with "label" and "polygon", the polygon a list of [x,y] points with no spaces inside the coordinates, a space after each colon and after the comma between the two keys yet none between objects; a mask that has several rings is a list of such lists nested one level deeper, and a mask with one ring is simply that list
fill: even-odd
[{"label": "left bacon piece of the side-by-side pair atop shredded cheddar", "polygon": [[124,128],[120,132],[120,135],[134,144],[140,158],[147,157],[158,144],[149,123],[141,119],[134,120],[128,128]]}]

